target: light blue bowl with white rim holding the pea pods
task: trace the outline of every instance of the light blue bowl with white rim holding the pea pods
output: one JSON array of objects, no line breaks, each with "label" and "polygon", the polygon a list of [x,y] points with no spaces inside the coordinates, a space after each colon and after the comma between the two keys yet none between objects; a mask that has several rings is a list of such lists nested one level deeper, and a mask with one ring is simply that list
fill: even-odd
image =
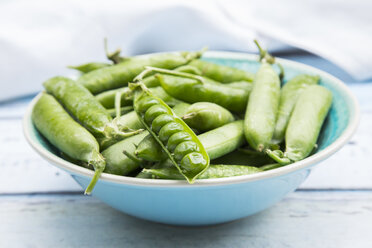
[{"label": "light blue bowl with white rim holding the pea pods", "polygon": [[[207,52],[203,59],[255,72],[256,55]],[[287,79],[301,73],[316,74],[320,84],[333,93],[333,104],[318,140],[317,152],[296,163],[257,174],[220,179],[197,180],[189,185],[179,180],[154,180],[103,173],[93,196],[126,214],[173,225],[211,225],[240,219],[262,211],[294,191],[309,175],[312,166],[339,150],[358,125],[355,97],[337,78],[326,72],[278,59]],[[93,172],[63,160],[38,133],[31,112],[24,117],[24,133],[31,146],[53,165],[67,171],[85,188]]]}]

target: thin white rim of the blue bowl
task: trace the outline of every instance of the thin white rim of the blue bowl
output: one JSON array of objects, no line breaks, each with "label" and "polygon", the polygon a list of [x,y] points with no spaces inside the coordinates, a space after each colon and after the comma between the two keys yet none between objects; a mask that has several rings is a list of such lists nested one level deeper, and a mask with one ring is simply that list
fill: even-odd
[{"label": "thin white rim of the blue bowl", "polygon": [[[222,51],[208,51],[203,54],[203,58],[220,58],[220,59],[241,59],[241,60],[257,60],[258,55],[256,54],[249,54],[249,53],[237,53],[237,52],[222,52]],[[333,83],[337,85],[341,91],[347,95],[348,100],[350,102],[351,107],[351,115],[349,116],[349,123],[343,133],[338,137],[332,144],[327,146],[324,150],[315,153],[312,156],[309,156],[301,161],[295,162],[293,164],[289,164],[277,169],[264,171],[256,174],[250,175],[243,175],[243,176],[235,176],[235,177],[227,177],[227,178],[216,178],[216,179],[203,179],[203,180],[196,180],[194,184],[189,184],[187,181],[183,180],[169,180],[169,179],[143,179],[143,178],[136,178],[136,177],[127,177],[127,176],[119,176],[119,175],[112,175],[108,173],[102,173],[99,181],[101,182],[111,182],[111,183],[118,183],[118,184],[126,184],[126,185],[135,185],[135,186],[151,186],[151,187],[200,187],[200,186],[221,186],[226,184],[239,184],[239,183],[246,183],[246,182],[253,182],[257,180],[263,180],[273,177],[283,176],[289,173],[293,173],[295,171],[299,171],[315,165],[316,163],[326,159],[330,155],[334,154],[338,151],[346,142],[351,138],[354,134],[355,130],[358,127],[359,119],[360,119],[360,109],[358,105],[358,101],[356,97],[353,95],[351,90],[338,78],[332,76],[331,74],[324,72],[320,69],[314,68],[309,65],[305,65],[296,61],[291,61],[282,58],[276,58],[277,62],[289,65],[291,67],[297,67],[301,70],[311,71],[311,73],[319,75],[321,78],[328,78]],[[91,178],[94,172],[90,169],[75,165],[71,162],[68,162],[57,155],[46,150],[39,142],[34,141],[31,138],[31,113],[32,109],[41,96],[39,93],[29,104],[26,113],[23,118],[23,132],[26,137],[28,143],[32,146],[32,148],[38,152],[43,158],[51,162],[53,165],[56,165],[60,169],[67,171],[72,175],[77,176],[85,176]]]}]

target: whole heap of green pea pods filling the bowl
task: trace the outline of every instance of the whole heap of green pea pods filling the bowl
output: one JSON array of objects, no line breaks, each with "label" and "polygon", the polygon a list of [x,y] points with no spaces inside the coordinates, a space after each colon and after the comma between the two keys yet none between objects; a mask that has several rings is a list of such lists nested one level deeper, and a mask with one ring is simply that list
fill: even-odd
[{"label": "whole heap of green pea pods filling the bowl", "polygon": [[193,183],[285,166],[316,149],[332,94],[317,75],[283,83],[256,44],[255,74],[203,51],[72,66],[81,76],[44,82],[32,120],[63,158],[95,171],[87,194],[103,172]]}]

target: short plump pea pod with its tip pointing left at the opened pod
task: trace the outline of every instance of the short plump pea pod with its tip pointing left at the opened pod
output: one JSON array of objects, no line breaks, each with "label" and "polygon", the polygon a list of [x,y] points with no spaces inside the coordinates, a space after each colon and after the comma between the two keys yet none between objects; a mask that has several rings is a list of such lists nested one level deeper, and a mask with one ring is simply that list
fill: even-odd
[{"label": "short plump pea pod with its tip pointing left at the opened pod", "polygon": [[189,107],[182,119],[191,128],[206,132],[234,121],[234,116],[215,103],[197,102]]}]

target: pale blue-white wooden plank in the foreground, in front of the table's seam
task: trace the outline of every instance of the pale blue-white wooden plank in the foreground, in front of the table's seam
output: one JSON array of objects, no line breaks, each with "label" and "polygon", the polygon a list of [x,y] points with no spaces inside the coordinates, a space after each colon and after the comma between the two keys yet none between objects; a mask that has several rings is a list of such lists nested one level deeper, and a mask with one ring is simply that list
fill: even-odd
[{"label": "pale blue-white wooden plank in the foreground, in front of the table's seam", "polygon": [[254,216],[174,227],[92,197],[0,197],[0,247],[372,247],[372,192],[295,192]]}]

